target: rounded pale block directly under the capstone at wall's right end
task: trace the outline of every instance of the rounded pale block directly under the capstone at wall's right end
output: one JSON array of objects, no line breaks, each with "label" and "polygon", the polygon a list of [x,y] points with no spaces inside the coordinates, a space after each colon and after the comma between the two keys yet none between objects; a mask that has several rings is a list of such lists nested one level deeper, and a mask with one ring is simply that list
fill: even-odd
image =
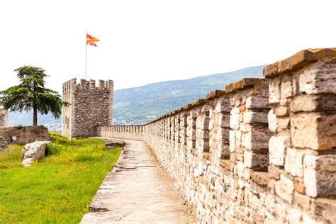
[{"label": "rounded pale block directly under the capstone at wall's right end", "polygon": [[336,94],[336,65],[317,62],[300,74],[300,91],[306,94]]}]

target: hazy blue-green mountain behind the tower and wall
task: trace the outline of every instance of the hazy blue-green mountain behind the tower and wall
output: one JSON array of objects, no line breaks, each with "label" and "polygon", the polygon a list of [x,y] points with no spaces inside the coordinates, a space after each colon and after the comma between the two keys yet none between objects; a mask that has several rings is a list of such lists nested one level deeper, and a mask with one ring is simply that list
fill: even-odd
[{"label": "hazy blue-green mountain behind the tower and wall", "polygon": [[[114,91],[114,123],[141,124],[173,111],[192,101],[204,98],[209,91],[224,89],[226,84],[242,78],[260,78],[264,65],[234,72],[211,74],[193,79],[157,82],[145,86]],[[31,125],[32,113],[9,113],[9,125]],[[60,130],[60,119],[51,114],[38,116],[38,123],[51,130]]]}]

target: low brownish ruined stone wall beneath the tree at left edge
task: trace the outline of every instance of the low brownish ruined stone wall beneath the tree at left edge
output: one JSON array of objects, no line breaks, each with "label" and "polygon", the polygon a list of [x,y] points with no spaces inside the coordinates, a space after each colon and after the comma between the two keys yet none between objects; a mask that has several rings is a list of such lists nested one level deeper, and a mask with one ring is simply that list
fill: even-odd
[{"label": "low brownish ruined stone wall beneath the tree at left edge", "polygon": [[0,136],[3,136],[8,143],[20,145],[49,140],[49,132],[43,126],[0,127]]}]

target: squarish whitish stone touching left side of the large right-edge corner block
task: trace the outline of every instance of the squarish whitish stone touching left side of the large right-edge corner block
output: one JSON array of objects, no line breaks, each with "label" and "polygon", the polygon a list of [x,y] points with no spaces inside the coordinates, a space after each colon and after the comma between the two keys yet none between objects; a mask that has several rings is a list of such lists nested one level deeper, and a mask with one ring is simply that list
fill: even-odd
[{"label": "squarish whitish stone touching left side of the large right-edge corner block", "polygon": [[293,177],[303,177],[303,152],[287,148],[285,170]]}]

